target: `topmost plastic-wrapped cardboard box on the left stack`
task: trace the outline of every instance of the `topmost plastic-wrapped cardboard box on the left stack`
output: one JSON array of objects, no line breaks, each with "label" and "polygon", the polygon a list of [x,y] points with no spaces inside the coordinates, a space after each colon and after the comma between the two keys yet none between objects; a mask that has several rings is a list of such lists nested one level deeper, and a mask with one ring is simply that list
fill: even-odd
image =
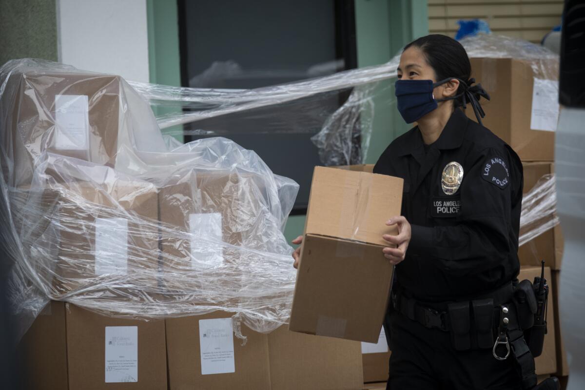
[{"label": "topmost plastic-wrapped cardboard box on the left stack", "polygon": [[33,159],[45,150],[114,166],[123,126],[120,77],[30,71],[8,82],[12,94],[1,105],[11,115],[3,143],[15,163],[13,185],[29,184]]}]

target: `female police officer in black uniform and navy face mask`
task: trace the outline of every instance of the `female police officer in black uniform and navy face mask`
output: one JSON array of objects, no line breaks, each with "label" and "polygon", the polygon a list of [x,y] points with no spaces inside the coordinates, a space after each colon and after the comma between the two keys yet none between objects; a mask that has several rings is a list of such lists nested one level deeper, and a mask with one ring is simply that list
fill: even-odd
[{"label": "female police officer in black uniform and navy face mask", "polygon": [[384,249],[396,264],[384,323],[392,389],[522,388],[517,361],[493,348],[495,310],[511,301],[519,272],[522,165],[480,124],[478,100],[488,96],[470,75],[450,37],[421,37],[402,51],[397,106],[417,126],[374,167],[404,179],[402,216],[388,220],[399,234],[384,236],[396,246]]}]

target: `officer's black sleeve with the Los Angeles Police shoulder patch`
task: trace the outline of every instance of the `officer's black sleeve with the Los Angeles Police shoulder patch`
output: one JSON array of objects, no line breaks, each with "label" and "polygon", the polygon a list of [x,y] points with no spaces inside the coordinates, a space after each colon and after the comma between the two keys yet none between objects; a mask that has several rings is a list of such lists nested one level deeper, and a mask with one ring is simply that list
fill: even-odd
[{"label": "officer's black sleeve with the Los Angeles Police shoulder patch", "polygon": [[512,233],[519,215],[512,215],[512,210],[521,186],[519,161],[505,149],[484,150],[464,172],[456,225],[412,225],[408,251],[431,259],[465,260],[460,267],[468,269],[474,264],[477,271],[510,258],[518,247],[518,234]]}]

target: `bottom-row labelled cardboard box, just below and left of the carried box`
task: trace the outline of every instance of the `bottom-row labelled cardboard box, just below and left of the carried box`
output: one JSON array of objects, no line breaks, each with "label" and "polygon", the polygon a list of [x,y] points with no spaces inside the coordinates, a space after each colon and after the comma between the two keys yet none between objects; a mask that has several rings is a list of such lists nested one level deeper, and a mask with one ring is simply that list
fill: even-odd
[{"label": "bottom-row labelled cardboard box, just below and left of the carried box", "polygon": [[242,345],[225,312],[166,323],[171,390],[354,390],[363,384],[359,343],[353,341],[285,327],[262,334],[242,325],[247,337]]}]

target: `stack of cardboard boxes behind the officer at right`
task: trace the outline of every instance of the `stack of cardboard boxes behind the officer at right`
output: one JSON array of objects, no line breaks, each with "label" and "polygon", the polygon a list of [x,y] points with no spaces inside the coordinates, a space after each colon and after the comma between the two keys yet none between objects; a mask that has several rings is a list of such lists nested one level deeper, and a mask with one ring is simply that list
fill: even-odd
[{"label": "stack of cardboard boxes behind the officer at right", "polygon": [[[559,60],[553,56],[470,60],[472,77],[491,97],[482,104],[486,112],[484,125],[518,153],[524,168],[525,202],[522,204],[520,238],[528,241],[518,250],[521,265],[518,279],[534,281],[534,277],[540,274],[542,260],[546,262],[548,333],[542,355],[536,358],[536,374],[541,377],[554,375],[566,383],[569,367],[561,337],[558,294],[563,236],[560,225],[542,233],[538,231],[555,217],[551,180],[555,171],[555,130],[559,113]],[[473,112],[468,111],[467,115],[473,119]],[[530,201],[551,205],[542,208],[542,215],[534,215],[535,211],[528,204]]]}]

